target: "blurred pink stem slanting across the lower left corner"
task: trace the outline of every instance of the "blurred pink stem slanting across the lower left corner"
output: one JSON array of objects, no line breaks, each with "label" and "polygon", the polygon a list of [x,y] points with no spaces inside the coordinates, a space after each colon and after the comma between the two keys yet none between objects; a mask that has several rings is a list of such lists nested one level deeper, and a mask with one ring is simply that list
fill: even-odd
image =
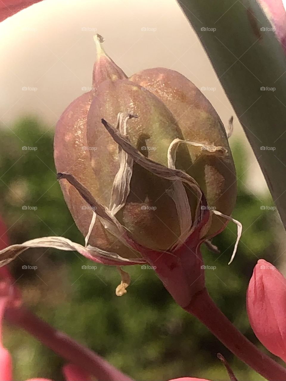
[{"label": "blurred pink stem slanting across the lower left corner", "polygon": [[8,322],[31,333],[67,362],[86,370],[99,381],[133,381],[99,355],[69,338],[63,332],[57,331],[26,308],[22,306],[8,308],[5,317]]}]

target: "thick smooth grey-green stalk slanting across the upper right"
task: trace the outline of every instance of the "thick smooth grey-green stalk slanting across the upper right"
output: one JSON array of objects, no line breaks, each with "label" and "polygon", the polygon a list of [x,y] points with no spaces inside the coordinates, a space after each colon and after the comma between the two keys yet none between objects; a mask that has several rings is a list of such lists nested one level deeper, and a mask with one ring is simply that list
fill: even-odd
[{"label": "thick smooth grey-green stalk slanting across the upper right", "polygon": [[179,5],[235,109],[286,226],[286,62],[273,26],[255,0]]}]

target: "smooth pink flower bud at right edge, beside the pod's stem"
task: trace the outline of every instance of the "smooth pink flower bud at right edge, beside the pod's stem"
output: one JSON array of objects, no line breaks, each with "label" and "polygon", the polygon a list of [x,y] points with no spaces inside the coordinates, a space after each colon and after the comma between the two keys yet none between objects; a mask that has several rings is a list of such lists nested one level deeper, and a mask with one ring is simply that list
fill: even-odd
[{"label": "smooth pink flower bud at right edge, beside the pod's stem", "polygon": [[247,314],[261,343],[286,360],[286,279],[264,259],[259,259],[247,290]]}]

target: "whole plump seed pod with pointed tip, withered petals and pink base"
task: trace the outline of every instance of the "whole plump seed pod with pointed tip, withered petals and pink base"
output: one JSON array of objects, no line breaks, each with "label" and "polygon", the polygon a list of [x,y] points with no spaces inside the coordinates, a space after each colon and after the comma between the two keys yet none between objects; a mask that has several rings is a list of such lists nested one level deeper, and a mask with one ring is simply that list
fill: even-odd
[{"label": "whole plump seed pod with pointed tip, withered petals and pink base", "polygon": [[[44,237],[2,250],[2,264],[29,247],[76,250],[118,267],[147,262],[185,307],[204,289],[201,243],[233,220],[228,134],[183,75],[156,68],[127,78],[102,41],[95,36],[92,90],[67,107],[55,131],[59,182],[85,246]],[[120,272],[117,295],[130,283]]]}]

